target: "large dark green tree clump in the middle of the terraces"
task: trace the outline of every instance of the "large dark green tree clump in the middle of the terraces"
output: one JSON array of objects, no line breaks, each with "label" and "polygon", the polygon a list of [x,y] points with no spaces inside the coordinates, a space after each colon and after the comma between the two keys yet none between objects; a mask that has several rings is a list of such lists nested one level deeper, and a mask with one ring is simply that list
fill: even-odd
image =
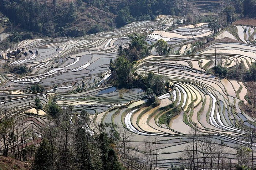
[{"label": "large dark green tree clump in the middle of the terraces", "polygon": [[151,46],[145,41],[143,35],[129,36],[131,43],[128,48],[119,47],[116,60],[110,59],[109,68],[112,71],[112,84],[117,87],[152,89],[156,95],[162,94],[166,80],[163,75],[149,72],[146,77],[134,75],[133,67],[137,60],[150,55]]}]

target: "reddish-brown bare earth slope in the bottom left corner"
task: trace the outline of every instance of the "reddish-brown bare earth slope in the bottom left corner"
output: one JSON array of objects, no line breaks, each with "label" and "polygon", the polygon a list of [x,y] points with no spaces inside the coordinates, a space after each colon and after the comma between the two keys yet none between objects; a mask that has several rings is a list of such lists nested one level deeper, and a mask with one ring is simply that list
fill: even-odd
[{"label": "reddish-brown bare earth slope in the bottom left corner", "polygon": [[0,156],[0,169],[1,170],[29,170],[30,164],[17,161],[16,159]]}]

